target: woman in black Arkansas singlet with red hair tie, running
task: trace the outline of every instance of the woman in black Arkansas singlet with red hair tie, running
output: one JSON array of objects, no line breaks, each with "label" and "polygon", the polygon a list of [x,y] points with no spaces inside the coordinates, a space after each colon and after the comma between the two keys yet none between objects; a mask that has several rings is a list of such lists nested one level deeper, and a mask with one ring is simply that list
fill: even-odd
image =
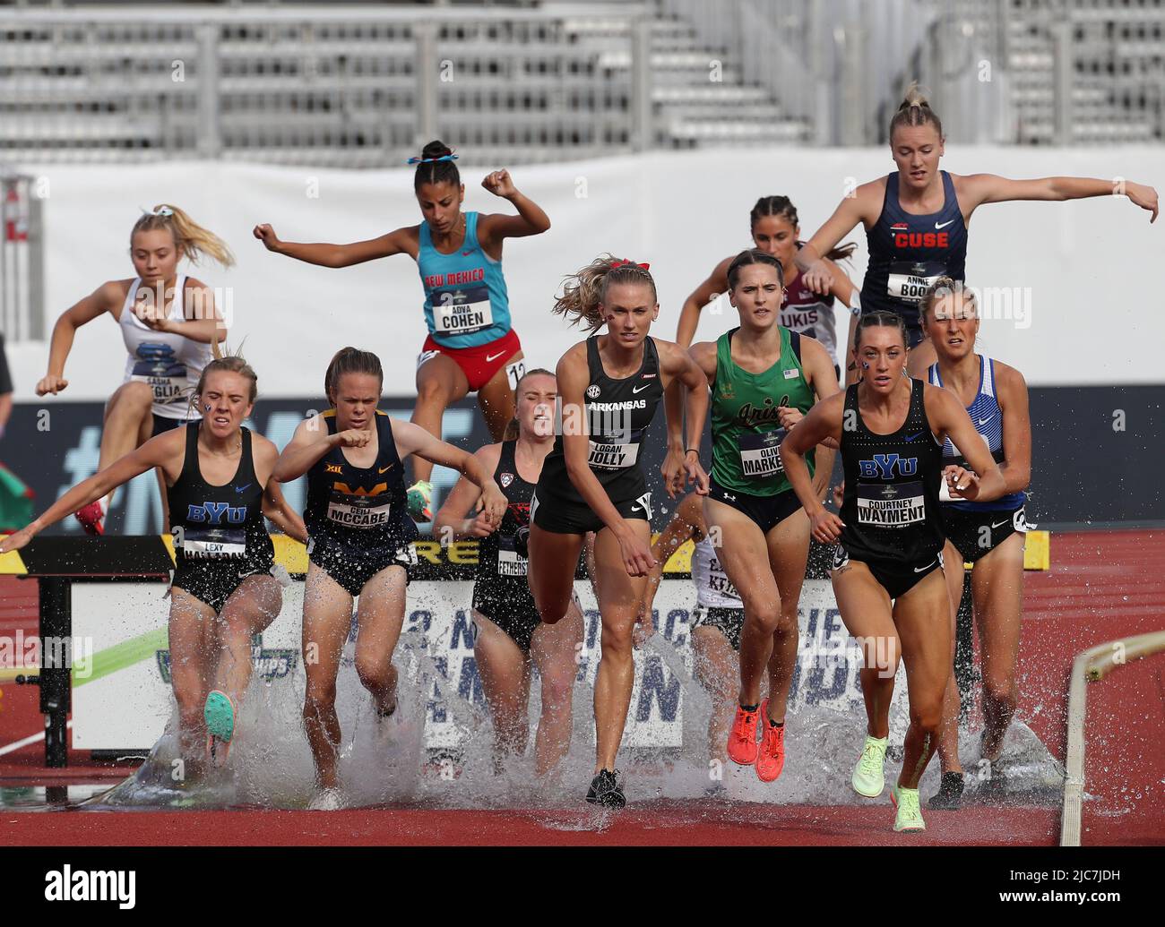
[{"label": "woman in black Arkansas singlet with red hair tie, running", "polygon": [[615,757],[635,681],[633,628],[640,616],[651,559],[651,494],[643,477],[642,441],[664,390],[687,390],[683,423],[668,420],[664,484],[683,488],[684,473],[707,491],[699,465],[707,413],[704,375],[687,353],[651,338],[659,314],[647,266],[600,257],[574,274],[555,312],[586,323],[595,334],[558,362],[560,422],[555,450],[538,477],[530,510],[530,589],[548,624],[560,621],[574,594],[574,567],[588,531],[595,531],[595,594],[602,616],[602,659],[594,688],[595,776],[587,801],[622,807]]}]

